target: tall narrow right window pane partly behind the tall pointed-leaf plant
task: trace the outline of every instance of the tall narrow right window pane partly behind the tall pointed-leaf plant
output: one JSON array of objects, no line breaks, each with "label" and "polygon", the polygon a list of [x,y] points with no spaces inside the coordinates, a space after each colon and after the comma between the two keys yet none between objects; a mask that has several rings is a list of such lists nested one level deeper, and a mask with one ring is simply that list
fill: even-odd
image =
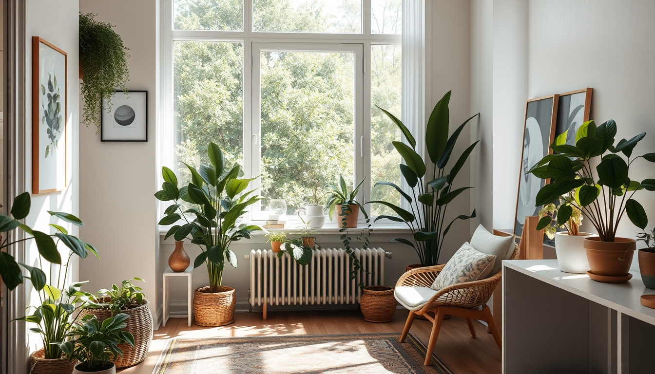
[{"label": "tall narrow right window pane partly behind the tall pointed-leaf plant", "polygon": [[[401,100],[400,45],[371,46],[371,103],[386,109],[400,119]],[[392,145],[400,140],[398,126],[377,107],[371,105],[371,185],[388,181],[400,186],[401,157]],[[400,195],[387,186],[373,187],[371,200],[384,200],[400,206]],[[395,215],[390,208],[371,204],[371,214]]]}]

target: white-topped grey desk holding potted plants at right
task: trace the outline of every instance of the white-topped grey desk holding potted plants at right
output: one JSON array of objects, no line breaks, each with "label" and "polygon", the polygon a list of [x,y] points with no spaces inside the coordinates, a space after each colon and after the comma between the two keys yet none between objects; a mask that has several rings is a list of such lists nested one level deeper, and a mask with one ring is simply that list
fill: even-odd
[{"label": "white-topped grey desk holding potted plants at right", "polygon": [[655,309],[624,284],[559,271],[557,260],[503,261],[502,373],[655,373]]}]

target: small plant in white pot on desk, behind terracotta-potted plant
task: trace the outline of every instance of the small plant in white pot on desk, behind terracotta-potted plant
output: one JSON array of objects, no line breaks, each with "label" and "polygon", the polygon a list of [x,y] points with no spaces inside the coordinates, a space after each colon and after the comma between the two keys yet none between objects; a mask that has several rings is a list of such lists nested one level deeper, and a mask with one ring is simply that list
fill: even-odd
[{"label": "small plant in white pot on desk, behind terracotta-potted plant", "polygon": [[[565,195],[567,200],[571,200],[571,193]],[[564,214],[558,215],[559,211]],[[568,214],[572,210],[571,215]],[[569,219],[562,219],[569,216]],[[555,239],[555,252],[557,253],[557,263],[559,270],[563,272],[582,273],[589,270],[587,261],[587,252],[584,249],[584,238],[593,236],[591,233],[581,233],[578,228],[582,223],[582,212],[575,206],[566,201],[561,202],[558,206],[551,203],[539,211],[539,223],[536,229],[546,229],[546,235],[551,240]],[[559,231],[557,229],[565,229]]]}]

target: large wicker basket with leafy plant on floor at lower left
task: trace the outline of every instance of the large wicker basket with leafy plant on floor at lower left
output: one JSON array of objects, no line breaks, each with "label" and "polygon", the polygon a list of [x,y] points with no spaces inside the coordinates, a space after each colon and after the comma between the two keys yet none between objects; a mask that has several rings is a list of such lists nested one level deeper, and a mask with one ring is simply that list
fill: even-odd
[{"label": "large wicker basket with leafy plant on floor at lower left", "polygon": [[125,322],[125,331],[130,333],[134,340],[131,344],[119,345],[122,354],[115,358],[117,368],[138,364],[148,355],[150,342],[153,338],[153,315],[150,304],[141,292],[141,288],[134,286],[135,280],[143,282],[141,278],[123,280],[121,286],[113,284],[111,288],[98,291],[94,304],[80,312],[80,316],[92,314],[103,322],[117,313],[130,316]]}]

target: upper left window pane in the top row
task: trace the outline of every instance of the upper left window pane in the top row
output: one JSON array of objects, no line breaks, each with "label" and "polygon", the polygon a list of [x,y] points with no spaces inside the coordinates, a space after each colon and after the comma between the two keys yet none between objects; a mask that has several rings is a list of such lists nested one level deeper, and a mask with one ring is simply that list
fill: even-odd
[{"label": "upper left window pane in the top row", "polygon": [[244,28],[244,0],[174,0],[176,30]]}]

